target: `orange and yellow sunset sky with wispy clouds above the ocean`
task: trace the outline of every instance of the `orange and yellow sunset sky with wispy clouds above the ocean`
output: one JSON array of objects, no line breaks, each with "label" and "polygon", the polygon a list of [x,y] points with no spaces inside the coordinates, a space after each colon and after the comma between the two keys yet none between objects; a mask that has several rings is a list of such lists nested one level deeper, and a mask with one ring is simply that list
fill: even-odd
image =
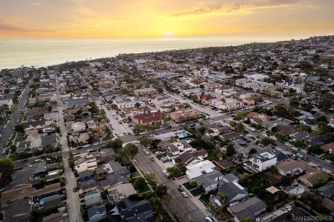
[{"label": "orange and yellow sunset sky with wispy clouds above the ocean", "polygon": [[0,37],[330,35],[334,0],[2,0]]}]

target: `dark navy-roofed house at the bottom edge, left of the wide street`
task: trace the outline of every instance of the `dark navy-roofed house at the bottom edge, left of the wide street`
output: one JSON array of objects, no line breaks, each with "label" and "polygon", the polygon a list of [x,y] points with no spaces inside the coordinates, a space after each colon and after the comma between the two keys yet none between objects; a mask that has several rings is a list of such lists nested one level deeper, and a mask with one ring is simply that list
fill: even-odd
[{"label": "dark navy-roofed house at the bottom edge, left of the wide street", "polygon": [[[150,206],[149,200],[143,199],[137,201],[129,198],[123,198],[121,201],[116,203],[116,207],[110,211],[112,216],[118,217],[118,220],[127,221],[131,218],[137,219],[138,215],[149,212],[154,212]],[[153,221],[155,221],[155,219]]]}]

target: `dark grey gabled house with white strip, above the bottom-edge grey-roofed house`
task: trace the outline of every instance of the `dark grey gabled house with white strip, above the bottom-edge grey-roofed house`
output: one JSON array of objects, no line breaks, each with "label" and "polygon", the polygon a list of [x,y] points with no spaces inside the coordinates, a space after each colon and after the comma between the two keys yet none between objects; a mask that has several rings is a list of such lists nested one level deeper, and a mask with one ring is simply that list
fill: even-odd
[{"label": "dark grey gabled house with white strip, above the bottom-edge grey-roofed house", "polygon": [[247,189],[236,182],[229,183],[223,181],[218,187],[218,193],[225,193],[227,195],[224,203],[221,203],[220,201],[221,206],[225,206],[248,197]]}]

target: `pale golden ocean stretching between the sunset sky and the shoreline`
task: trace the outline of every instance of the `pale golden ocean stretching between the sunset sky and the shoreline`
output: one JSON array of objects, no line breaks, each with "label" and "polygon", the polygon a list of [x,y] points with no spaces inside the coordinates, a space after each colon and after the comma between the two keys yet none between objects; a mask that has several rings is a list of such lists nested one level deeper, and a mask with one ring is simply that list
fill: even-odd
[{"label": "pale golden ocean stretching between the sunset sky and the shoreline", "polygon": [[275,42],[273,37],[110,37],[110,38],[0,38],[0,70],[21,66],[50,66],[64,62],[112,57],[119,53],[155,52],[209,46]]}]

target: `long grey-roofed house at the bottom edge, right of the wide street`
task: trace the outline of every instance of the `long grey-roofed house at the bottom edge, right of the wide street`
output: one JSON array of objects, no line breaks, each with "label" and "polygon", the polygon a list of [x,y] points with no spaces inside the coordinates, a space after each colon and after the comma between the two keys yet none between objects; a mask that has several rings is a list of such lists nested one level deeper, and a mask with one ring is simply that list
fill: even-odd
[{"label": "long grey-roofed house at the bottom edge, right of the wide street", "polygon": [[227,208],[236,222],[240,222],[242,217],[251,217],[255,221],[256,217],[265,212],[266,209],[267,205],[264,201],[255,196]]}]

